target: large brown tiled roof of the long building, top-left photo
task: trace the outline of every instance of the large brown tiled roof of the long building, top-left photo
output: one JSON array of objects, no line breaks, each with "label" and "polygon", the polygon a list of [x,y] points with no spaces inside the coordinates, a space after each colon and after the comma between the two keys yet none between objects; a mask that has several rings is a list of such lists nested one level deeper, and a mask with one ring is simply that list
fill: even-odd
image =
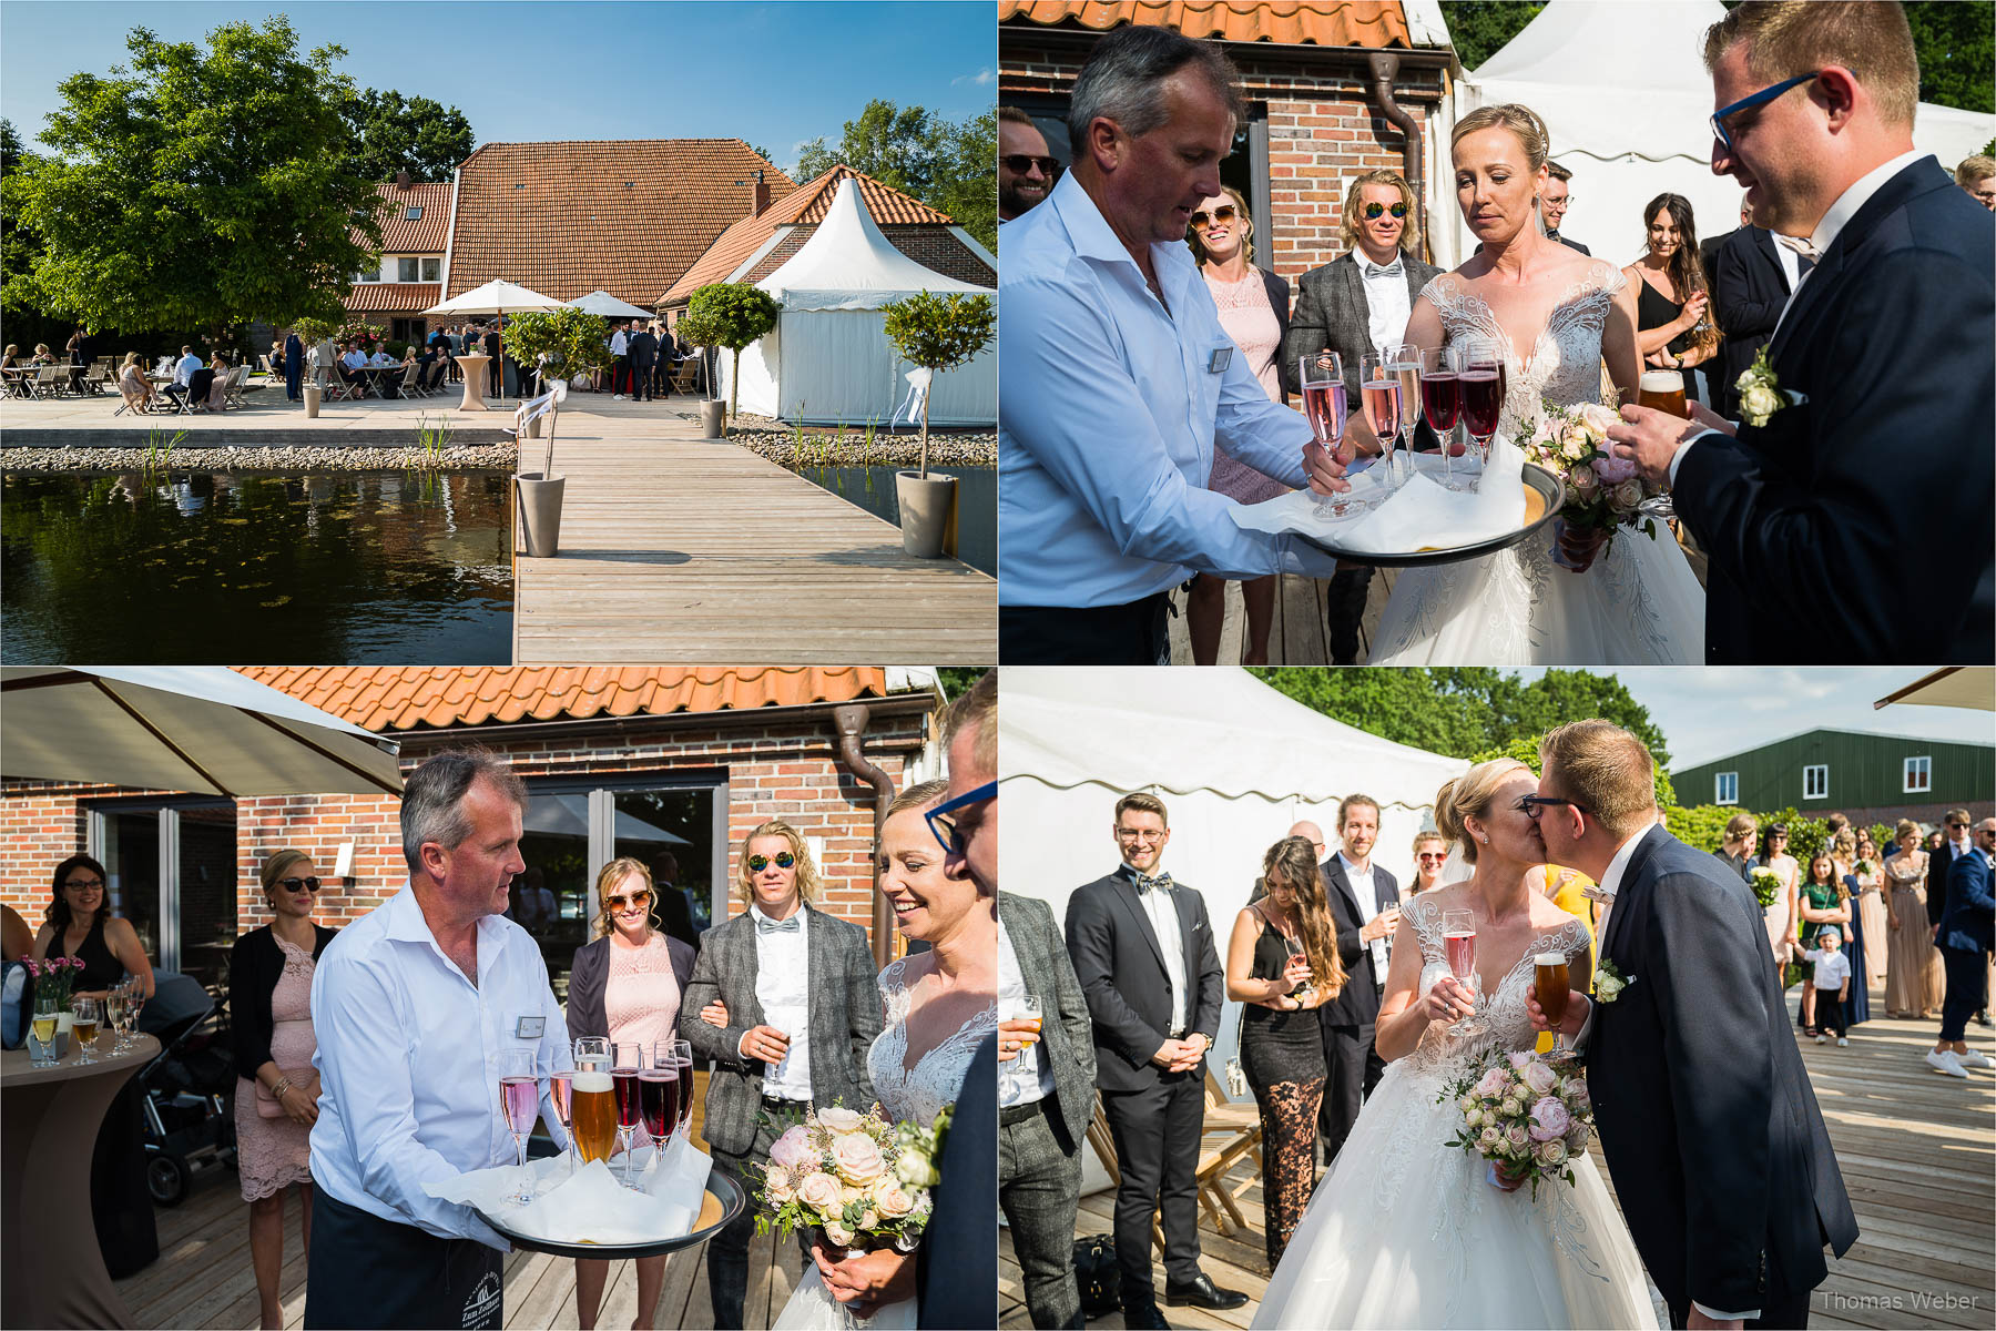
[{"label": "large brown tiled roof of the long building, top-left photo", "polygon": [[505,277],[655,305],[752,212],[756,170],[772,206],[796,190],[735,138],[485,144],[459,172],[449,295]]}]

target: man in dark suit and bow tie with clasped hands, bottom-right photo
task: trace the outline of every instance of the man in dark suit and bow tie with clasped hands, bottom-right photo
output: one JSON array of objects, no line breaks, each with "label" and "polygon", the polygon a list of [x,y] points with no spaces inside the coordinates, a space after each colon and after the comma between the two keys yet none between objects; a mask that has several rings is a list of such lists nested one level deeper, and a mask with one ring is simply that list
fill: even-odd
[{"label": "man in dark suit and bow tie with clasped hands, bottom-right photo", "polygon": [[1200,1271],[1200,1133],[1206,1054],[1226,972],[1206,898],[1172,882],[1164,802],[1116,800],[1122,866],[1068,898],[1068,956],[1094,1022],[1096,1086],[1116,1137],[1116,1265],[1126,1327],[1166,1327],[1150,1273],[1150,1219],[1164,1223],[1164,1301],[1240,1307]]}]

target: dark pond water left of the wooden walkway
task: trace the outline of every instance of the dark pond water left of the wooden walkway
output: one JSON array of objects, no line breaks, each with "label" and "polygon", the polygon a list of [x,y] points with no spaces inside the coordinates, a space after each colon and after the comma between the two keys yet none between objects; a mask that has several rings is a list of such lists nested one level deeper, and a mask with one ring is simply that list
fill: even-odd
[{"label": "dark pond water left of the wooden walkway", "polygon": [[507,665],[501,471],[14,473],[8,665]]}]

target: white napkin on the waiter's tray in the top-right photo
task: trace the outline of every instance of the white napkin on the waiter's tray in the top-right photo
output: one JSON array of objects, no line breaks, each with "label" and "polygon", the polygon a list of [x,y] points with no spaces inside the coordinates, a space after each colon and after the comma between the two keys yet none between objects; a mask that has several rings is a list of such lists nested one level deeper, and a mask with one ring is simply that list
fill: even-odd
[{"label": "white napkin on the waiter's tray in the top-right photo", "polygon": [[[1395,455],[1393,467],[1413,475],[1383,505],[1361,517],[1321,519],[1315,515],[1319,495],[1309,489],[1289,491],[1263,503],[1238,505],[1234,521],[1248,531],[1273,535],[1301,533],[1361,555],[1411,555],[1421,549],[1473,545],[1517,531],[1525,525],[1525,487],[1519,473],[1525,455],[1499,437],[1491,461],[1475,491],[1451,491],[1433,479],[1441,475],[1439,453]],[[1453,459],[1461,467],[1463,459]],[[1383,483],[1383,467],[1373,463],[1351,477],[1351,495],[1373,497]]]}]

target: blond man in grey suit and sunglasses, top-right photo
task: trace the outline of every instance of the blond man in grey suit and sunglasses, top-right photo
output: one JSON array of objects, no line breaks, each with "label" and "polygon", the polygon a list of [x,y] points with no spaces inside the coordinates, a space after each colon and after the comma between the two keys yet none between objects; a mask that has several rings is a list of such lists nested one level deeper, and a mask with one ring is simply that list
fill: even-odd
[{"label": "blond man in grey suit and sunglasses, top-right photo", "polygon": [[[1413,190],[1395,172],[1365,172],[1345,192],[1343,239],[1351,249],[1297,279],[1295,315],[1283,347],[1291,373],[1301,373],[1325,351],[1335,351],[1345,371],[1345,431],[1361,451],[1377,451],[1359,405],[1359,361],[1367,351],[1405,341],[1407,315],[1441,269],[1417,257],[1419,212]],[[1437,447],[1427,423],[1415,427],[1415,449]],[[1325,607],[1333,665],[1355,665],[1359,619],[1371,565],[1339,563]]]}]

